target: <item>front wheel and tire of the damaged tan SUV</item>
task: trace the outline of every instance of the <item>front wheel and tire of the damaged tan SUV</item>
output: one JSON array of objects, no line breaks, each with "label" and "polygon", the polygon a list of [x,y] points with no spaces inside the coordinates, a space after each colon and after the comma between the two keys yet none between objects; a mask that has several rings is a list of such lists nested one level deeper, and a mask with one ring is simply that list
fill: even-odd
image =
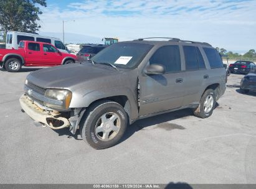
[{"label": "front wheel and tire of the damaged tan SUV", "polygon": [[83,141],[97,150],[107,149],[120,141],[128,124],[128,116],[120,104],[99,101],[86,112],[79,129]]}]

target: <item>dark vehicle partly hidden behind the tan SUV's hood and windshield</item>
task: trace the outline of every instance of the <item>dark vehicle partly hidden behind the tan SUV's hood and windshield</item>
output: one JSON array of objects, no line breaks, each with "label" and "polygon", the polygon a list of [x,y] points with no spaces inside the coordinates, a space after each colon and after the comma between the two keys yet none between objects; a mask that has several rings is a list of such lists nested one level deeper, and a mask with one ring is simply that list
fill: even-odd
[{"label": "dark vehicle partly hidden behind the tan SUV's hood and windshield", "polygon": [[77,62],[87,62],[105,47],[108,47],[108,45],[83,45],[77,53]]}]

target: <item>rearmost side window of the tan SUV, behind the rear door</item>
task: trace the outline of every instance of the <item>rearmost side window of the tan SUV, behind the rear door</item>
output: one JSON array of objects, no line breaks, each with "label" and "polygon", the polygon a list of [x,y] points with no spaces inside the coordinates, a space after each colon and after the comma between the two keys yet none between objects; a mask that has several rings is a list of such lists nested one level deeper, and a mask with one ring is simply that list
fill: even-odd
[{"label": "rearmost side window of the tan SUV, behind the rear door", "polygon": [[223,68],[224,67],[224,65],[222,63],[222,59],[220,58],[220,55],[216,49],[204,47],[204,52],[206,53],[206,57],[210,63],[211,68]]}]

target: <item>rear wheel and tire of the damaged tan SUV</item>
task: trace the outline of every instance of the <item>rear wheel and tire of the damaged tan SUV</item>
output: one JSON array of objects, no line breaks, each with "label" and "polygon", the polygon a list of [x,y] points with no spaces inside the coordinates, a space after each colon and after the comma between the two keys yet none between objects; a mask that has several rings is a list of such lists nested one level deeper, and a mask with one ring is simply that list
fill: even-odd
[{"label": "rear wheel and tire of the damaged tan SUV", "polygon": [[[207,102],[208,101],[208,102]],[[208,107],[208,108],[207,108]],[[216,94],[212,89],[204,91],[199,101],[199,106],[193,109],[194,116],[198,118],[208,118],[216,107]]]}]

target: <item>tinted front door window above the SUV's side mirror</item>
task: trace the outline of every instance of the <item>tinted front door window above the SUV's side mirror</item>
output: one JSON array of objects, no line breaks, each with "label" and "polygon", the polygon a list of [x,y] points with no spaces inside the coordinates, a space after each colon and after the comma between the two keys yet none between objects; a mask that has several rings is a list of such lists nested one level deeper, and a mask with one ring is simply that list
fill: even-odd
[{"label": "tinted front door window above the SUV's side mirror", "polygon": [[158,48],[149,59],[149,64],[164,65],[166,72],[181,71],[181,55],[178,45]]}]

